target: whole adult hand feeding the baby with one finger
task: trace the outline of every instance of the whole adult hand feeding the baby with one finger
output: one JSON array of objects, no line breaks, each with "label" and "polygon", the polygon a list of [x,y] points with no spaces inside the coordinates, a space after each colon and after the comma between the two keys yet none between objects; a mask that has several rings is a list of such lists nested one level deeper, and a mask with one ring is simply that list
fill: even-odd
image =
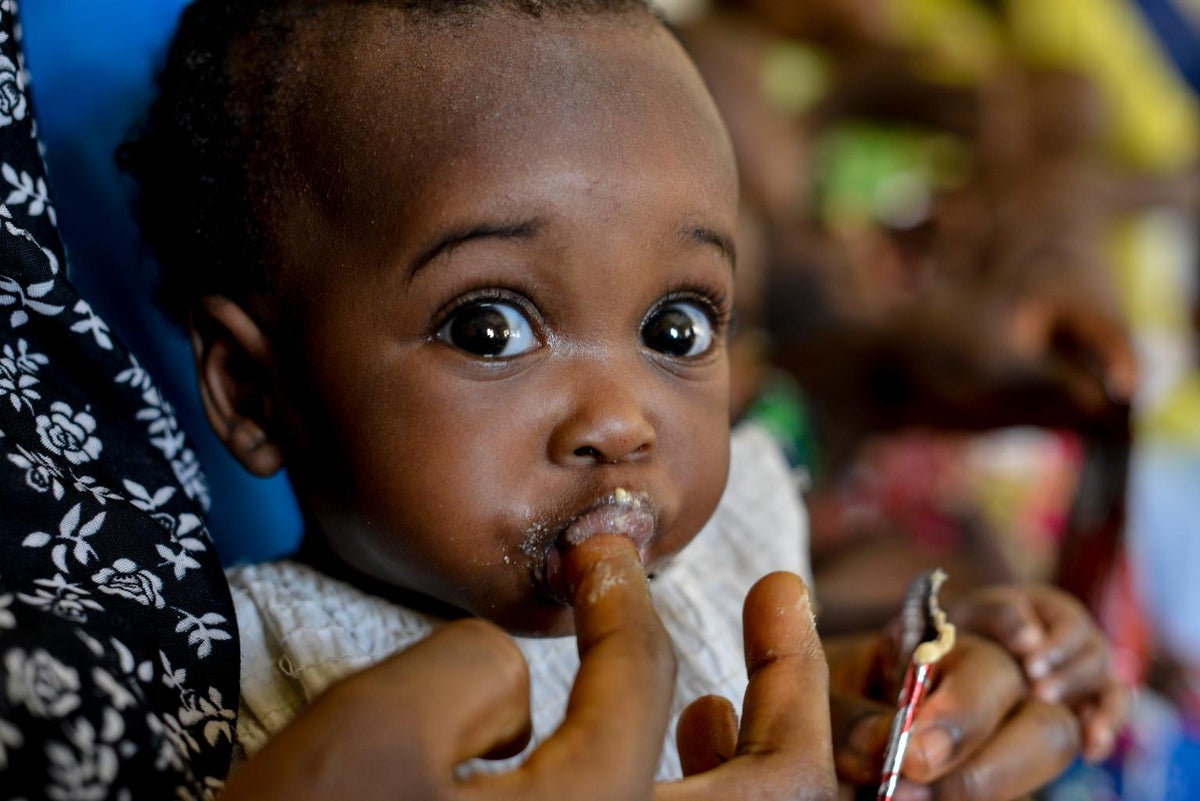
[{"label": "whole adult hand feeding the baby with one finger", "polygon": [[740,729],[702,698],[679,725],[688,778],[655,787],[674,657],[644,568],[623,537],[566,555],[581,667],[566,718],[520,767],[455,778],[472,757],[509,755],[529,731],[524,661],[498,628],[463,620],[342,681],[242,765],[226,800],[832,799],[827,669],[808,591],[793,574],[745,604],[750,686]]}]

